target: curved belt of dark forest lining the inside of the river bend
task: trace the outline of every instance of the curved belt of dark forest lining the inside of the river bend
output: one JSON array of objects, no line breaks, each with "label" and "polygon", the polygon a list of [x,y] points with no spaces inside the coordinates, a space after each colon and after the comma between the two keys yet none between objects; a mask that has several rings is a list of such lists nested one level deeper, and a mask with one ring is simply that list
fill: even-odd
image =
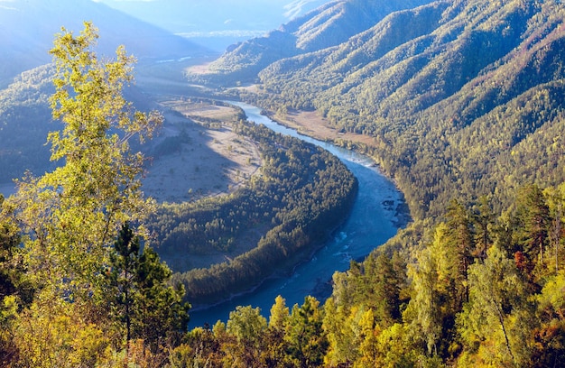
[{"label": "curved belt of dark forest lining the inside of the river bend", "polygon": [[261,174],[229,196],[164,204],[150,221],[164,254],[229,251],[243,232],[264,234],[245,253],[208,268],[176,272],[187,299],[210,304],[249,290],[282,264],[308,257],[343,221],[357,194],[357,179],[329,152],[240,121],[237,131],[261,145]]}]

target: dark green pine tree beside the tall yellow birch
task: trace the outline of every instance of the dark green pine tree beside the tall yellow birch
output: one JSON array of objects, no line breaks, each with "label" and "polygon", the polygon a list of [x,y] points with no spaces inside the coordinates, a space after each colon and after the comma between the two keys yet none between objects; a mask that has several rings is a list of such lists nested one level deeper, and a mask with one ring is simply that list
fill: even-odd
[{"label": "dark green pine tree beside the tall yellow birch", "polygon": [[139,237],[126,223],[116,240],[107,275],[105,295],[111,316],[125,324],[125,341],[154,344],[174,333],[186,332],[190,305],[184,290],[171,287],[171,270],[149,247],[141,250]]}]

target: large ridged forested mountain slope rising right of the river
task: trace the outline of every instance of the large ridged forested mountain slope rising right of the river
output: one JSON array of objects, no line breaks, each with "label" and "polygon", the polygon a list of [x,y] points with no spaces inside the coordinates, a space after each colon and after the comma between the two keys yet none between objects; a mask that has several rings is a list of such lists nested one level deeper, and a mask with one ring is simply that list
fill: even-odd
[{"label": "large ridged forested mountain slope rising right of the river", "polygon": [[416,217],[560,183],[565,7],[439,1],[260,73],[265,107],[316,109],[394,176]]}]

